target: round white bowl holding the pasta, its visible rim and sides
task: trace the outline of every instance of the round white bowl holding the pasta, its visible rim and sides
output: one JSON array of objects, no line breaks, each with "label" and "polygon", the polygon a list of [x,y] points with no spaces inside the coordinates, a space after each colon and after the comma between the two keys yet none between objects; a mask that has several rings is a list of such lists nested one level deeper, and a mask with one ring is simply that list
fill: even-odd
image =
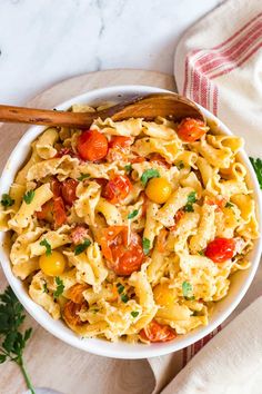
[{"label": "round white bowl holding the pasta, its visible rim and sides", "polygon": [[[135,95],[145,95],[151,92],[163,92],[167,90],[157,89],[147,86],[115,86],[111,88],[98,89],[89,91],[84,95],[74,97],[73,99],[66,101],[58,106],[58,109],[67,110],[73,104],[90,104],[95,105],[104,101],[121,101],[129,97]],[[215,128],[225,135],[232,135],[232,132],[211,112],[206,109],[201,108],[205,117],[215,125]],[[30,127],[27,134],[20,139],[17,147],[13,149],[4,169],[2,173],[0,181],[0,195],[8,193],[12,180],[27,159],[30,151],[30,144],[42,132],[44,127],[34,126]],[[254,174],[254,170],[250,164],[246,154],[242,150],[240,152],[240,158],[248,168],[249,185],[254,190],[254,198],[258,205],[258,216],[260,220],[260,230],[262,228],[261,217],[262,217],[262,201],[261,191],[259,184]],[[252,265],[246,270],[240,270],[235,273],[231,280],[231,286],[229,294],[222,301],[220,301],[214,309],[213,315],[210,317],[210,323],[208,326],[199,327],[192,331],[188,335],[179,336],[177,339],[168,343],[160,344],[128,344],[124,342],[110,343],[103,339],[82,339],[77,336],[62,321],[54,321],[52,317],[43,311],[43,308],[37,305],[28,295],[22,282],[14,277],[11,270],[9,253],[3,247],[4,233],[0,233],[0,260],[3,272],[10,283],[13,292],[29,312],[29,314],[47,331],[57,336],[58,338],[64,341],[66,343],[81,348],[85,352],[94,353],[101,356],[115,357],[115,358],[145,358],[160,356],[171,352],[177,352],[183,347],[187,347],[194,342],[201,339],[209,333],[211,333],[215,327],[218,327],[236,307],[241,302],[244,294],[246,293],[251,282],[255,275],[259,266],[262,243],[258,239],[254,243],[254,248],[250,254],[250,259]]]}]

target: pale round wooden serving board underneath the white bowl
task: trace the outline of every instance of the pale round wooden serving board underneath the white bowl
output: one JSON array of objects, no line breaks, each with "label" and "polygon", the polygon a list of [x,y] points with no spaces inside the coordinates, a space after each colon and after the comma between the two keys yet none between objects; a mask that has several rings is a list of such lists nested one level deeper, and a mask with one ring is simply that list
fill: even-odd
[{"label": "pale round wooden serving board underneath the white bowl", "polygon": [[[148,85],[175,90],[174,79],[161,72],[145,70],[108,70],[85,73],[64,80],[33,98],[27,106],[53,108],[58,104],[88,90],[115,85]],[[1,125],[1,124],[0,124]],[[10,152],[28,126],[2,125],[0,127],[2,170]],[[0,290],[7,280],[0,268]],[[95,356],[73,348],[57,339],[30,316],[27,324],[33,327],[24,359],[36,387],[50,387],[71,394],[149,394],[154,378],[144,359],[125,361]],[[26,385],[13,363],[0,365],[0,394],[21,394]]]}]

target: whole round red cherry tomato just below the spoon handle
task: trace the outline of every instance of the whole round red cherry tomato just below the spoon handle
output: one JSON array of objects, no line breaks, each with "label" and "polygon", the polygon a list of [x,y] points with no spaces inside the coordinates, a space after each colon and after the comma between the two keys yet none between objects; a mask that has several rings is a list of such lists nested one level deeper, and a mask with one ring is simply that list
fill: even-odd
[{"label": "whole round red cherry tomato just below the spoon handle", "polygon": [[97,130],[85,130],[78,138],[77,149],[83,160],[101,160],[108,154],[108,139]]}]

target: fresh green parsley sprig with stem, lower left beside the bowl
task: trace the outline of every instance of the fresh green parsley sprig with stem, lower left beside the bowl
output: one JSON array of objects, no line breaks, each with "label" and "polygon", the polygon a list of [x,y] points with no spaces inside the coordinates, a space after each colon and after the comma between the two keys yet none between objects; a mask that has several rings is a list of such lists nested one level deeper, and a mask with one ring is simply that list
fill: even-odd
[{"label": "fresh green parsley sprig with stem, lower left beside the bowl", "polygon": [[9,286],[0,294],[0,364],[6,361],[17,363],[28,388],[36,394],[23,362],[23,351],[32,333],[32,328],[20,332],[24,317],[23,307]]}]

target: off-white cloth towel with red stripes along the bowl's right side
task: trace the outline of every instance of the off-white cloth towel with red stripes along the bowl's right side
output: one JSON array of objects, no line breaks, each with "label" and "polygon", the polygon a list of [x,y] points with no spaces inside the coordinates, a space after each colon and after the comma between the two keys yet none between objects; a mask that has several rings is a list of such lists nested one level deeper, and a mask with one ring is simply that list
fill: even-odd
[{"label": "off-white cloth towel with red stripes along the bowl's right side", "polygon": [[[179,93],[208,108],[242,136],[254,158],[262,158],[261,46],[262,1],[229,0],[185,32],[174,58]],[[262,294],[261,283],[262,267],[222,327],[185,349],[149,359],[154,393],[170,381],[163,394],[262,393],[262,299],[229,324]]]}]

